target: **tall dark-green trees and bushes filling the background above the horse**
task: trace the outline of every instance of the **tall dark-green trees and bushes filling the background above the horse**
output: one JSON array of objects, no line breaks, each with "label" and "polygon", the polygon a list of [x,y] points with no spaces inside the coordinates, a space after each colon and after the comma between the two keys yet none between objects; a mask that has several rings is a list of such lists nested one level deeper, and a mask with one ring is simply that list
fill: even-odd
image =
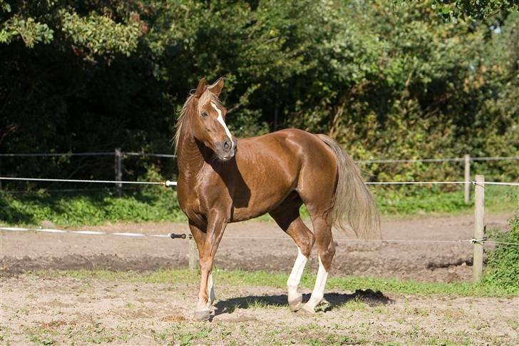
[{"label": "tall dark-green trees and bushes filling the background above the horse", "polygon": [[[509,0],[0,0],[0,151],[168,153],[174,110],[200,77],[225,76],[237,136],[295,126],[328,133],[360,160],[519,156],[516,9]],[[176,173],[173,161],[126,158],[124,176],[151,166]],[[519,176],[510,161],[474,168]],[[463,171],[364,170],[372,180]],[[1,172],[113,175],[103,158],[2,158]]]}]

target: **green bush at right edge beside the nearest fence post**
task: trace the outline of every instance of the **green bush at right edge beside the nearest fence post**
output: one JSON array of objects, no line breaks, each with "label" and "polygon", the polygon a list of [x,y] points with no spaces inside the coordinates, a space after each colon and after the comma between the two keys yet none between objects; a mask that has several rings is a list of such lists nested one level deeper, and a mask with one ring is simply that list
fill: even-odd
[{"label": "green bush at right edge beside the nearest fence post", "polygon": [[508,290],[519,290],[519,215],[510,220],[510,230],[495,233],[490,240],[508,244],[497,244],[488,253],[483,282]]}]

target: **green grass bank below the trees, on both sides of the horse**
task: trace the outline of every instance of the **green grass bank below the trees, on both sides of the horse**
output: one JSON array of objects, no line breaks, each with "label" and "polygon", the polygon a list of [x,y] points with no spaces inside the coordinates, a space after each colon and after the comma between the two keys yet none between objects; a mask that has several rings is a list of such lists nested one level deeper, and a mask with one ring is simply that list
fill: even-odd
[{"label": "green grass bank below the trees, on both sides of the horse", "polygon": [[[382,215],[470,213],[473,203],[463,203],[461,186],[446,192],[433,186],[406,189],[371,186]],[[519,188],[488,185],[485,207],[490,212],[510,212],[517,206]],[[301,213],[308,217],[304,206]],[[63,227],[99,225],[114,222],[185,222],[178,208],[176,192],[165,188],[125,191],[118,198],[113,190],[74,193],[5,193],[0,192],[2,225],[41,225],[43,220]],[[270,221],[269,215],[257,220]]]}]

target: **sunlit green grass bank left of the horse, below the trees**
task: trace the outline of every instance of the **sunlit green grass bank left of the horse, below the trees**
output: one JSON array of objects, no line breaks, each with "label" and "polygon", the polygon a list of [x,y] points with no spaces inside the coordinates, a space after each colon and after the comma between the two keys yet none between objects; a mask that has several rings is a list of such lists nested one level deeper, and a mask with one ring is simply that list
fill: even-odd
[{"label": "sunlit green grass bank left of the horse, below the trees", "polygon": [[88,193],[0,193],[0,220],[16,225],[39,225],[48,220],[64,227],[108,222],[185,220],[174,190],[147,188],[125,191],[118,198],[112,190]]}]

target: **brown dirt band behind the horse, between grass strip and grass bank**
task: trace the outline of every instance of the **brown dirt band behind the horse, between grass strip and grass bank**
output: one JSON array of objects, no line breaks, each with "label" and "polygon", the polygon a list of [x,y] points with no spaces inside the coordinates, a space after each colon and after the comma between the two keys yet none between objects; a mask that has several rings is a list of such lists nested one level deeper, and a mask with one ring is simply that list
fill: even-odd
[{"label": "brown dirt band behind the horse, between grass strip and grass bank", "polygon": [[[487,215],[487,228],[507,229],[511,215]],[[113,224],[81,228],[108,233],[189,233],[184,223]],[[382,221],[386,240],[470,239],[473,216],[424,216]],[[258,238],[274,239],[258,239]],[[450,282],[471,277],[469,243],[359,243],[334,231],[337,243],[331,275],[369,275]],[[490,248],[488,245],[485,248]],[[24,270],[102,268],[155,270],[187,267],[188,241],[129,238],[116,235],[0,232],[0,275]],[[289,274],[297,248],[275,223],[246,222],[227,226],[216,255],[220,269],[267,270]],[[309,268],[317,271],[317,253]]]}]

